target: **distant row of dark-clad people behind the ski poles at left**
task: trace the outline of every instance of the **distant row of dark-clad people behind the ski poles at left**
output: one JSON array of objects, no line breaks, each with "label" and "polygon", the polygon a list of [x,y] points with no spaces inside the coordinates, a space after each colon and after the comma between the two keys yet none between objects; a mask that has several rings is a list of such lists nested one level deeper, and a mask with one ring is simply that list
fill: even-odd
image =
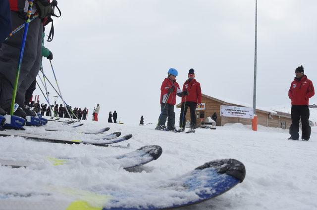
[{"label": "distant row of dark-clad people behind the ski poles at left", "polygon": [[[78,120],[87,120],[87,113],[88,110],[85,107],[83,110],[81,108],[75,107],[72,110],[71,106],[66,105],[64,107],[62,104],[55,106],[52,104],[51,107],[47,104],[40,104],[40,101],[35,103],[32,101],[29,103],[29,107],[33,109],[35,113],[40,113],[42,116],[52,116],[51,110],[53,111],[53,117],[59,117],[59,118],[70,118],[68,113],[71,115],[71,118],[78,119]],[[67,111],[68,113],[67,113]]]}]

